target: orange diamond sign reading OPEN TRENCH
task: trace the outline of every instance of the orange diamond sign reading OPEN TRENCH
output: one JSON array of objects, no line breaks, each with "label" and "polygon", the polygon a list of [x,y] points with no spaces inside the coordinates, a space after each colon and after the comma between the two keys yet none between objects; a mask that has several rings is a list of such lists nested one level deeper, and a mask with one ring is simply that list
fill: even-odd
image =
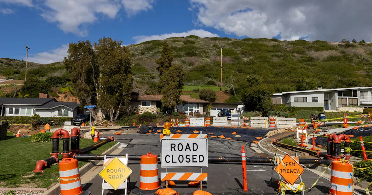
[{"label": "orange diamond sign reading OPEN TRENCH", "polygon": [[275,171],[279,173],[279,175],[282,176],[289,184],[294,185],[304,172],[304,168],[302,168],[302,166],[298,163],[298,158],[295,160],[288,154],[283,157],[282,162],[279,162],[279,164],[275,167]]}]

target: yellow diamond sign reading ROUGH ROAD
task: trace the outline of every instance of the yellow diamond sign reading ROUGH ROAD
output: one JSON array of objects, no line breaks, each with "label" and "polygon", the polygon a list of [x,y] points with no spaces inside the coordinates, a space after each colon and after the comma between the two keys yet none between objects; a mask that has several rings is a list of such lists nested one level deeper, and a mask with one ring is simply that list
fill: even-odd
[{"label": "yellow diamond sign reading ROUGH ROAD", "polygon": [[125,181],[129,175],[132,174],[132,170],[129,169],[123,162],[115,157],[105,169],[103,169],[99,176],[104,179],[107,183],[112,186],[113,189],[118,189],[119,186]]}]

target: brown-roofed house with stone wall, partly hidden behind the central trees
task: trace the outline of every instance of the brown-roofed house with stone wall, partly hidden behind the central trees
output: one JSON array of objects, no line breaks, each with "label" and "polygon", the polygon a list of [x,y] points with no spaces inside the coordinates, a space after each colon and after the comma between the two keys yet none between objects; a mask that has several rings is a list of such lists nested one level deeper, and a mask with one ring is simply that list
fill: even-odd
[{"label": "brown-roofed house with stone wall, partly hidden behind the central trees", "polygon": [[[130,105],[138,113],[157,113],[157,108],[161,108],[161,98],[163,95],[140,95],[132,93],[132,100]],[[218,112],[222,109],[229,109],[232,112],[237,112],[237,106],[241,103],[209,103],[205,100],[192,98],[190,95],[180,95],[182,104],[177,105],[176,109],[180,113],[190,114],[200,113],[205,114],[209,104],[212,104],[211,116],[217,116]]]}]

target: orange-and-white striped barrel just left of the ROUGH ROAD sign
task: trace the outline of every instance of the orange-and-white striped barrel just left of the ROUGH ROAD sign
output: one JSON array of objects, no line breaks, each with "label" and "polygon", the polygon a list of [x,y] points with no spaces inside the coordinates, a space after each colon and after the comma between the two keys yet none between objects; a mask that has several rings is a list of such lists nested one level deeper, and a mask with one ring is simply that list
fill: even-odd
[{"label": "orange-and-white striped barrel just left of the ROUGH ROAD sign", "polygon": [[77,160],[65,158],[58,163],[58,166],[60,168],[61,195],[77,195],[83,193]]}]

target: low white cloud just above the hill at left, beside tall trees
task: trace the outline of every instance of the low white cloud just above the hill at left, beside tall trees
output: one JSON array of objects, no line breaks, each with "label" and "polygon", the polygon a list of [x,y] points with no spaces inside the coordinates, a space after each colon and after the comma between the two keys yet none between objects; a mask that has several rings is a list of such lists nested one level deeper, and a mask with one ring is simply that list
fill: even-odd
[{"label": "low white cloud just above the hill at left, beside tall trees", "polygon": [[[53,49],[48,52],[36,53],[32,57],[28,58],[29,62],[35,62],[40,64],[50,64],[53,62],[61,62],[64,57],[67,56],[68,44],[62,45],[60,48]],[[26,60],[26,58],[24,58]]]}]

